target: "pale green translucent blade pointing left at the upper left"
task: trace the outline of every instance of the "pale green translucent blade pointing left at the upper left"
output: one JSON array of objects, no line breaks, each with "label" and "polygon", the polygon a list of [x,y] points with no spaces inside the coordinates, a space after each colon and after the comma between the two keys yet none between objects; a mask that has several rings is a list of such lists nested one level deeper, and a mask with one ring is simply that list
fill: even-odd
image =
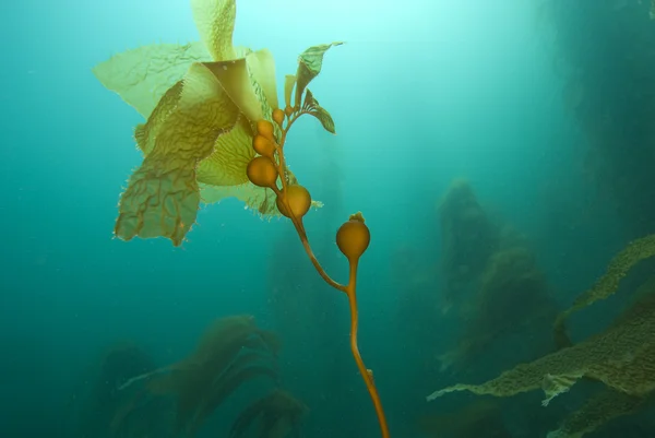
[{"label": "pale green translucent blade pointing left at the upper left", "polygon": [[147,118],[193,62],[211,60],[202,43],[153,44],[115,55],[94,67],[93,73],[106,88]]}]

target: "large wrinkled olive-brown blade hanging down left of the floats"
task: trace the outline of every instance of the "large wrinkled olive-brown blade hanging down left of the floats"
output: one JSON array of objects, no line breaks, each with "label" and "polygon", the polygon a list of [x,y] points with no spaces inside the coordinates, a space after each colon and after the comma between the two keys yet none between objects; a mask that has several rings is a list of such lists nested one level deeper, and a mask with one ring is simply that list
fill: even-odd
[{"label": "large wrinkled olive-brown blade hanging down left of the floats", "polygon": [[239,108],[216,76],[205,64],[192,64],[175,109],[151,133],[152,152],[121,196],[116,236],[123,240],[164,236],[180,245],[200,203],[196,166],[238,118]]}]

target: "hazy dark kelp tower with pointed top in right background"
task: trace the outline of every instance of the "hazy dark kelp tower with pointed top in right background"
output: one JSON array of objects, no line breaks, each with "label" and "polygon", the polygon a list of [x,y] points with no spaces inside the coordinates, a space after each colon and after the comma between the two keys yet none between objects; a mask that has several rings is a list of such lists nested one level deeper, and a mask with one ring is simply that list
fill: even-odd
[{"label": "hazy dark kelp tower with pointed top in right background", "polygon": [[521,234],[490,218],[468,181],[450,185],[439,218],[445,303],[464,321],[456,347],[439,356],[441,370],[477,364],[496,340],[535,330],[537,321],[550,325],[558,310],[536,254]]}]

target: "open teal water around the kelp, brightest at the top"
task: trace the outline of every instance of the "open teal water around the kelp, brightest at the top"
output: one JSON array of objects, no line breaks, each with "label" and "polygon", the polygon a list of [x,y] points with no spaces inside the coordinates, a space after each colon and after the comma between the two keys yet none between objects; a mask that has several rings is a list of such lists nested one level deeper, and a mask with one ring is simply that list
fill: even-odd
[{"label": "open teal water around the kelp, brightest at the top", "polygon": [[[439,271],[438,205],[453,179],[466,178],[490,215],[528,238],[561,309],[629,240],[655,232],[655,212],[640,198],[652,199],[655,187],[648,5],[571,4],[238,3],[235,44],[273,52],[278,91],[302,50],[346,42],[325,55],[311,84],[337,135],[303,117],[286,153],[298,179],[324,202],[305,222],[336,280],[347,281],[347,262],[334,233],[358,211],[370,227],[358,277],[359,346],[394,437],[421,436],[417,418],[448,411],[450,399],[426,403],[433,390],[483,381],[544,353],[520,357],[516,345],[531,338],[513,339],[514,346],[501,341],[495,347],[496,368],[478,363],[475,372],[440,371],[436,358],[456,345],[465,322],[444,311]],[[289,221],[262,221],[228,199],[201,206],[180,248],[164,238],[112,236],[119,194],[142,162],[132,130],[144,120],[92,68],[142,45],[198,40],[188,2],[25,0],[0,10],[7,17],[0,31],[0,434],[85,437],[79,406],[88,403],[107,348],[133,342],[160,367],[187,356],[216,318],[249,313],[282,340],[281,381],[310,410],[306,436],[379,436],[349,352],[347,300],[315,274]],[[604,99],[593,100],[593,93]],[[632,125],[626,122],[620,137],[603,130],[608,119]],[[610,135],[607,150],[594,149]],[[638,153],[631,139],[646,152]],[[618,162],[629,164],[612,167]],[[599,167],[614,173],[590,177]],[[627,204],[630,197],[635,201]],[[410,299],[420,275],[431,279],[420,288],[432,307]],[[576,336],[606,327],[627,299],[615,298],[581,316]],[[227,436],[248,391],[254,389],[222,406],[201,435]],[[456,398],[457,405],[474,400]],[[546,415],[535,394],[517,400],[503,399],[512,437],[545,436],[576,409],[561,402]],[[642,413],[590,436],[650,437],[654,427]],[[617,435],[621,430],[626,435]]]}]

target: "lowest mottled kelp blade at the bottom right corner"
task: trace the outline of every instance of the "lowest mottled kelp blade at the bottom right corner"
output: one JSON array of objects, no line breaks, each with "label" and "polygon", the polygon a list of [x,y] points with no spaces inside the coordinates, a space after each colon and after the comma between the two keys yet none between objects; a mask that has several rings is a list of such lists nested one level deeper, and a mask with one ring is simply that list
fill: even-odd
[{"label": "lowest mottled kelp blade at the bottom right corner", "polygon": [[603,389],[580,410],[569,415],[560,428],[550,431],[546,438],[581,438],[614,418],[638,411],[644,400],[642,396],[629,395],[609,388]]}]

